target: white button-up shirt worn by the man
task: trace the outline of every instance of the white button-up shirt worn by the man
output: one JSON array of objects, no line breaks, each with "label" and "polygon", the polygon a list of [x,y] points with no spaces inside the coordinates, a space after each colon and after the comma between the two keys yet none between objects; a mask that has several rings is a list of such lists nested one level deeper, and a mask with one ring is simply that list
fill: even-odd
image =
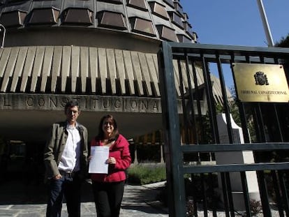
[{"label": "white button-up shirt worn by the man", "polygon": [[66,130],[68,137],[58,169],[65,172],[77,172],[80,170],[80,133],[77,128],[69,124],[67,124]]}]

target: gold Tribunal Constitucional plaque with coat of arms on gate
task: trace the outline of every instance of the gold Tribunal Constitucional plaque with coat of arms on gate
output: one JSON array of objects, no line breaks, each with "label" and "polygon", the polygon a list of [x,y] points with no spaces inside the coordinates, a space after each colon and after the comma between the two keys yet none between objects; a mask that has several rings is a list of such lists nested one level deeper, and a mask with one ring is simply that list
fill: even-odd
[{"label": "gold Tribunal Constitucional plaque with coat of arms on gate", "polygon": [[288,103],[288,83],[282,65],[233,63],[232,66],[242,102]]}]

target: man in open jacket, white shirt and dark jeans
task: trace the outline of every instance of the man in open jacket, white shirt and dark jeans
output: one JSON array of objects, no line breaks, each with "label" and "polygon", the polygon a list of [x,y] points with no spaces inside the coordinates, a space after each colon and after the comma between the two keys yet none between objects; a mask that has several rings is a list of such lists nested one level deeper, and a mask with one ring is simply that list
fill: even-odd
[{"label": "man in open jacket, white shirt and dark jeans", "polygon": [[61,216],[64,197],[69,217],[80,217],[80,188],[87,174],[87,128],[77,123],[77,101],[64,107],[66,121],[52,125],[45,151],[45,179],[49,181],[47,217]]}]

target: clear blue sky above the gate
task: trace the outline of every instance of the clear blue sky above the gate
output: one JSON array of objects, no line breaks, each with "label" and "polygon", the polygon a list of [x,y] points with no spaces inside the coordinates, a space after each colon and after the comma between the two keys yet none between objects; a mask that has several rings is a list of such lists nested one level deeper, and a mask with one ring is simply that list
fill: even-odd
[{"label": "clear blue sky above the gate", "polygon": [[[258,0],[180,0],[198,43],[268,47]],[[262,0],[273,43],[289,33],[289,0]],[[225,64],[225,84],[233,86],[230,66]],[[210,64],[213,74],[218,70]]]}]

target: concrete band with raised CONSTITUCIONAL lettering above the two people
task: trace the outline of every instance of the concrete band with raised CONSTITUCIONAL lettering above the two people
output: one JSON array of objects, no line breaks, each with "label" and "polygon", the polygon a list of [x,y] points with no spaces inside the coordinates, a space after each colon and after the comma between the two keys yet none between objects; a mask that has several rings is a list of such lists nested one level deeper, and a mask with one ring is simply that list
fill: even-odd
[{"label": "concrete band with raised CONSTITUCIONAL lettering above the two people", "polygon": [[159,98],[77,96],[47,94],[1,94],[1,110],[63,110],[68,100],[77,100],[81,110],[96,112],[161,113]]}]

